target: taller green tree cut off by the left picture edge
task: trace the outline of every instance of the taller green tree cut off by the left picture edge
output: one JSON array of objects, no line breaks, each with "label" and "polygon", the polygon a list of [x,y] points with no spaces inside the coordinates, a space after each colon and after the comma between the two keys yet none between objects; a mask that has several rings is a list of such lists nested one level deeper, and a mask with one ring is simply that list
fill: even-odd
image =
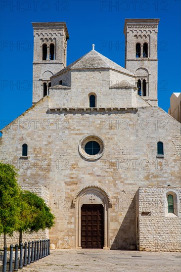
[{"label": "taller green tree cut off by the left picture edge", "polygon": [[12,236],[19,224],[19,195],[20,187],[17,183],[17,169],[10,164],[0,162],[0,234]]}]

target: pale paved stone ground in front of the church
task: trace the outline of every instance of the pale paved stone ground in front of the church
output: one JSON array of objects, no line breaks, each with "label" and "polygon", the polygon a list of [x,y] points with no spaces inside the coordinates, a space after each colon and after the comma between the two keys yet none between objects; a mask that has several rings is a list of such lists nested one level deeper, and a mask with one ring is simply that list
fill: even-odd
[{"label": "pale paved stone ground in front of the church", "polygon": [[181,272],[181,253],[59,249],[23,271]]}]

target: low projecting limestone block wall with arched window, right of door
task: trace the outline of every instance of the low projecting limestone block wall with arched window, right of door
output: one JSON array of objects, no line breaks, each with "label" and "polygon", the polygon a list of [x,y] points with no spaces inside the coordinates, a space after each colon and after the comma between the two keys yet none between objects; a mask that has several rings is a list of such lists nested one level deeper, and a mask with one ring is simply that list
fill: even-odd
[{"label": "low projecting limestone block wall with arched window, right of door", "polygon": [[[174,195],[174,214],[168,213],[168,194]],[[136,220],[139,250],[181,252],[181,187],[140,187]]]}]

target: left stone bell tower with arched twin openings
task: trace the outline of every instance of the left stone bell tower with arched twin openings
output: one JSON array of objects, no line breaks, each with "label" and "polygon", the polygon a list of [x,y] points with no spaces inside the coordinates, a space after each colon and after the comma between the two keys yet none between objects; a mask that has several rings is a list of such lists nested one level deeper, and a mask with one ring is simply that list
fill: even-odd
[{"label": "left stone bell tower with arched twin openings", "polygon": [[48,94],[50,77],[66,67],[69,34],[65,22],[32,23],[33,104]]}]

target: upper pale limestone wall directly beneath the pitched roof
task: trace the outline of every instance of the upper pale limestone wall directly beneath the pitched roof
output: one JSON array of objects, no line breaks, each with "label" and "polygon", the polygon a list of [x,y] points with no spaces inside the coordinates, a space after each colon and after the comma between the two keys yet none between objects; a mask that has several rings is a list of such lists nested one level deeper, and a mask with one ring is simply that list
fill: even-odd
[{"label": "upper pale limestone wall directly beneath the pitched roof", "polygon": [[[117,75],[117,77],[116,77]],[[70,81],[71,78],[71,81]],[[110,80],[109,80],[110,79]],[[58,89],[59,80],[66,82],[71,89]],[[104,69],[88,69],[85,71],[73,70],[52,78],[52,87],[49,89],[49,107],[51,108],[87,108],[89,107],[89,94],[96,96],[96,107],[136,107],[136,91],[130,89],[118,89],[118,82],[128,82],[134,88],[134,77],[126,76]],[[116,84],[117,82],[117,84]],[[111,88],[110,84],[116,84]],[[54,86],[56,85],[56,86]],[[79,97],[79,98],[78,98]]]}]

